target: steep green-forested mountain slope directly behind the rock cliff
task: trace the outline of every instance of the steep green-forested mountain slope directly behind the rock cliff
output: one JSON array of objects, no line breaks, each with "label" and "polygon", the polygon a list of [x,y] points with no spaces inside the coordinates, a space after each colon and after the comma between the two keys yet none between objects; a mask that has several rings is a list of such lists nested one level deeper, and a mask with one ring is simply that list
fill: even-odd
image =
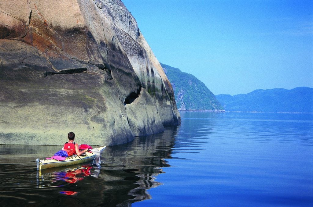
[{"label": "steep green-forested mountain slope directly behind the rock cliff", "polygon": [[195,76],[162,63],[161,66],[172,83],[178,110],[223,110],[214,94]]}]

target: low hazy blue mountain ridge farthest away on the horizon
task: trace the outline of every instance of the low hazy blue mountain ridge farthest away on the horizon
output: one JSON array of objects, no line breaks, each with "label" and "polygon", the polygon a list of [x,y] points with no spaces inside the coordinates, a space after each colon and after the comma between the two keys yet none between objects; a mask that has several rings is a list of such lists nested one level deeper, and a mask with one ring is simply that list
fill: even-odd
[{"label": "low hazy blue mountain ridge farthest away on the horizon", "polygon": [[313,88],[275,88],[248,94],[216,95],[225,111],[313,112]]}]

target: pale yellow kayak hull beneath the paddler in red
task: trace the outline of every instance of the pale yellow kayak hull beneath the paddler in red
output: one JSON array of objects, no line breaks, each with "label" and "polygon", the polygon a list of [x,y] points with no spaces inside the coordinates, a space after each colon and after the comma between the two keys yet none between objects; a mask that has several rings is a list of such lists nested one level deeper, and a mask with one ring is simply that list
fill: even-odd
[{"label": "pale yellow kayak hull beneath the paddler in red", "polygon": [[[98,149],[101,152],[106,148],[106,146],[103,147],[97,147],[94,149]],[[47,169],[47,168],[53,168],[53,167],[63,167],[63,166],[67,166],[67,165],[75,165],[75,164],[80,164],[80,163],[84,163],[84,162],[88,162],[91,161],[93,159],[95,159],[96,154],[87,151],[85,156],[77,156],[77,155],[72,155],[67,157],[65,160],[39,160],[37,158],[36,162],[37,162],[37,170],[43,170],[43,169]]]}]

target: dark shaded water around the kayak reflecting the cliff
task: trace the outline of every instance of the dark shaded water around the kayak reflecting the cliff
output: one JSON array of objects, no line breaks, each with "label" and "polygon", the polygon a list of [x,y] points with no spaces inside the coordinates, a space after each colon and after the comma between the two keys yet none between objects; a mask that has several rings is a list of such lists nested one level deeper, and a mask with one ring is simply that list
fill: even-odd
[{"label": "dark shaded water around the kayak reflecting the cliff", "polygon": [[[146,190],[168,167],[177,127],[107,147],[101,166],[91,163],[42,170],[34,160],[49,157],[60,146],[0,145],[0,205],[130,206],[146,200]],[[95,176],[93,176],[95,175]]]}]

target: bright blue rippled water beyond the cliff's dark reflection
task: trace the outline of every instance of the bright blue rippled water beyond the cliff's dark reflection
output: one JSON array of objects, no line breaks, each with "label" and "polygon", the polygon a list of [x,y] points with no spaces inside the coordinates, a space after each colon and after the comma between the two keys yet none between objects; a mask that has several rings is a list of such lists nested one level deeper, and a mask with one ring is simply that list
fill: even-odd
[{"label": "bright blue rippled water beyond the cliff's dark reflection", "polygon": [[162,185],[133,206],[313,206],[312,114],[181,116]]}]

